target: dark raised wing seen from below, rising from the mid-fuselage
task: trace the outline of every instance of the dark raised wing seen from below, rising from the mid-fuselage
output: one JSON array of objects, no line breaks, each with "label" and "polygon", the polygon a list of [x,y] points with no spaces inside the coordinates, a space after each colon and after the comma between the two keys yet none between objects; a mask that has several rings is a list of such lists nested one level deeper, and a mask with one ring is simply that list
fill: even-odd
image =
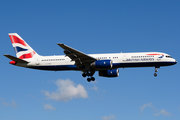
[{"label": "dark raised wing seen from below, rising from the mid-fuselage", "polygon": [[75,61],[77,67],[88,65],[97,60],[96,58],[93,58],[62,43],[58,43],[58,45],[64,49],[64,53],[66,54],[66,56],[71,58],[72,61]]}]

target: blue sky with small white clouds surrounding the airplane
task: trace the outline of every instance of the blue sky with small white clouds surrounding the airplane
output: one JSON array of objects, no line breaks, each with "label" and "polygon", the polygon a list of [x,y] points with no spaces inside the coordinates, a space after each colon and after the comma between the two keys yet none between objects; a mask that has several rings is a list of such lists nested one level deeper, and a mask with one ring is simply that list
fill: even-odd
[{"label": "blue sky with small white clouds surrounding the airplane", "polygon": [[[154,68],[125,68],[117,78],[95,73],[96,82],[88,83],[81,72],[20,68],[3,56],[15,56],[8,33],[16,32],[40,55],[63,55],[56,43],[64,43],[87,54],[157,51],[179,61],[179,6],[178,0],[1,1],[0,119],[179,120],[179,63],[160,68],[156,78]],[[66,93],[62,82],[81,94]]]}]

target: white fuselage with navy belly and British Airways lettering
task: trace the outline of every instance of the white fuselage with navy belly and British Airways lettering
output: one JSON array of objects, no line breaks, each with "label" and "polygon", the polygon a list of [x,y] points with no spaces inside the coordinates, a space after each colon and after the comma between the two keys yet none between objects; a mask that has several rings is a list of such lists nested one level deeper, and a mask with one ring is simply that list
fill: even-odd
[{"label": "white fuselage with navy belly and British Airways lettering", "polygon": [[[113,53],[113,54],[88,54],[97,60],[111,60],[112,69],[125,67],[160,67],[176,64],[176,60],[170,55],[161,52],[140,52],[140,53]],[[29,63],[18,63],[17,66],[41,69],[41,70],[79,70],[85,68],[77,68],[75,61],[68,56],[37,56],[33,59],[27,59]],[[95,69],[98,71],[101,69]]]}]

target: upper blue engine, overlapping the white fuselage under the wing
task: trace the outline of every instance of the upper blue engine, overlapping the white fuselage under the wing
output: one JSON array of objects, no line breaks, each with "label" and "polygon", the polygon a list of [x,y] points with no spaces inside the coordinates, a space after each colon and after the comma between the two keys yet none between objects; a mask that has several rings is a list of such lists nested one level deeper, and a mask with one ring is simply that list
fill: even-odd
[{"label": "upper blue engine, overlapping the white fuselage under the wing", "polygon": [[112,68],[111,60],[97,60],[91,64],[93,68]]}]

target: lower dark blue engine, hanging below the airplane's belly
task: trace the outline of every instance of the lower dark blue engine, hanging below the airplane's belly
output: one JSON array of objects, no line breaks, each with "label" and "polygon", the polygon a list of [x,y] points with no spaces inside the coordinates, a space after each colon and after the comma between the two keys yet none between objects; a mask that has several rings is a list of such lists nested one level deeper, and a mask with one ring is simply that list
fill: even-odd
[{"label": "lower dark blue engine, hanging below the airplane's belly", "polygon": [[100,70],[99,76],[101,76],[101,77],[118,77],[119,76],[119,70],[118,69]]}]

